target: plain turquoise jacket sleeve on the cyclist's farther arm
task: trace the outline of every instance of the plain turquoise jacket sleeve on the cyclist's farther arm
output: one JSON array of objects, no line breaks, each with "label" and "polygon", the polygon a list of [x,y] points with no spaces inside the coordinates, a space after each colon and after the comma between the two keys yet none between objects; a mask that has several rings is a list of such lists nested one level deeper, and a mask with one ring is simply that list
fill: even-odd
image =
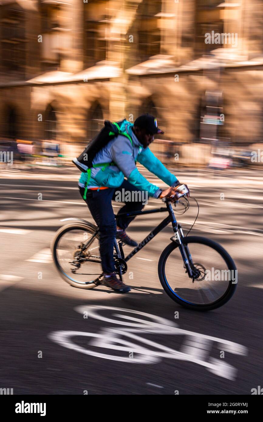
[{"label": "plain turquoise jacket sleeve on the cyclist's farther arm", "polygon": [[179,180],[167,170],[157,157],[155,157],[155,154],[152,153],[149,147],[138,154],[137,161],[144,165],[151,173],[155,174],[155,176],[159,177],[159,179],[168,184],[168,186],[178,186],[180,184]]}]

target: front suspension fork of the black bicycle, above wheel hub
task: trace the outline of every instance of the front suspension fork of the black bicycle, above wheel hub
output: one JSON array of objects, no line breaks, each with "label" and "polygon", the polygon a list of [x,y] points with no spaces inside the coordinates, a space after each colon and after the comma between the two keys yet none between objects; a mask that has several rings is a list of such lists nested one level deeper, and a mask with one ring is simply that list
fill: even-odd
[{"label": "front suspension fork of the black bicycle, above wheel hub", "polygon": [[182,240],[181,240],[182,238],[184,238],[182,226],[180,224],[178,224],[177,221],[176,221],[176,218],[175,218],[175,215],[174,215],[174,210],[171,206],[171,203],[167,202],[166,206],[167,206],[169,214],[171,216],[172,227],[173,227],[173,230],[174,230],[174,236],[171,237],[171,240],[178,244],[179,251],[181,252],[182,259],[184,261],[184,266],[186,268],[188,276],[191,279],[193,279],[195,274],[193,273],[193,270],[192,270],[192,268],[193,268],[192,257],[191,257],[188,245],[184,245],[182,243]]}]

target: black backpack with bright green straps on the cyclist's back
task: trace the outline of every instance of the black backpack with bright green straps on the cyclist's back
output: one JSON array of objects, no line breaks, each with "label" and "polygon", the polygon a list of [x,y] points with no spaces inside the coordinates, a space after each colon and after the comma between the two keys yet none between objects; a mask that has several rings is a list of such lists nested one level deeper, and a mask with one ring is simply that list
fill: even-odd
[{"label": "black backpack with bright green straps on the cyclist's back", "polygon": [[86,146],[84,151],[81,152],[79,157],[76,157],[72,160],[72,162],[76,165],[76,167],[82,171],[83,173],[87,173],[87,182],[85,187],[85,192],[83,195],[83,199],[86,199],[87,194],[87,186],[89,183],[91,169],[92,167],[107,167],[108,165],[114,165],[114,163],[100,163],[95,166],[92,165],[92,161],[97,154],[104,146],[107,145],[111,139],[115,138],[115,136],[123,135],[126,136],[131,144],[133,141],[126,132],[122,132],[120,130],[121,124],[126,121],[126,119],[121,120],[120,122],[110,122],[109,120],[104,121],[104,127],[100,130],[98,135],[90,141],[90,143]]}]

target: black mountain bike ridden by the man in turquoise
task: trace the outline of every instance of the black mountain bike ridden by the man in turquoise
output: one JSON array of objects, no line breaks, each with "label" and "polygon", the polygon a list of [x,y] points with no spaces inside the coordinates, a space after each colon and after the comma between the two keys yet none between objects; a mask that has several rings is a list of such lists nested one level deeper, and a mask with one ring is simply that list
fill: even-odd
[{"label": "black mountain bike ridden by the man in turquoise", "polygon": [[[168,212],[168,216],[126,257],[123,243],[115,240],[116,273],[122,279],[130,258],[171,222],[174,235],[171,237],[171,243],[163,250],[158,263],[158,276],[163,289],[170,298],[185,308],[198,311],[219,308],[236,290],[235,263],[220,244],[200,236],[187,236],[189,232],[184,237],[171,202],[164,202],[166,207],[118,214],[127,217]],[[179,202],[177,201],[177,205]],[[61,221],[68,220],[77,221],[70,222],[57,231],[52,244],[54,263],[62,278],[71,286],[91,289],[101,284],[103,277],[98,227],[77,218]]]}]

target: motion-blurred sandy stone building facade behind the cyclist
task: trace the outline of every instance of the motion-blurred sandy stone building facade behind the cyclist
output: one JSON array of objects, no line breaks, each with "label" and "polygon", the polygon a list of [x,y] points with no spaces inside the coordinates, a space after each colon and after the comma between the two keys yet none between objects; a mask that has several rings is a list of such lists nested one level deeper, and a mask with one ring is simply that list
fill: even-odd
[{"label": "motion-blurred sandy stone building facade behind the cyclist", "polygon": [[168,141],[262,141],[260,0],[1,0],[0,20],[3,138],[85,143],[149,112]]}]

